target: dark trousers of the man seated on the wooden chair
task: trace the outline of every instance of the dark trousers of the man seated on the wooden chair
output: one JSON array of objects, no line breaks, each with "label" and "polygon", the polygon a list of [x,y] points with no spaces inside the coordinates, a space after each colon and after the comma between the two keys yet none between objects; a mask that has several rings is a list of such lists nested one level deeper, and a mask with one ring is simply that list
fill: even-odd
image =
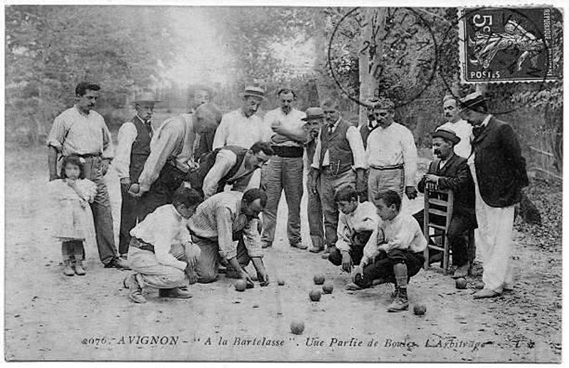
[{"label": "dark trousers of the man seated on the wooden chair", "polygon": [[[419,222],[421,230],[424,232],[423,229],[423,219],[425,218],[424,210],[420,210],[419,212],[413,215],[415,220]],[[437,224],[445,225],[444,217],[435,217],[435,219],[440,218],[440,221],[435,222]],[[462,266],[466,264],[468,259],[468,230],[474,229],[475,226],[472,224],[472,221],[468,219],[466,216],[462,216],[460,214],[455,213],[452,215],[450,220],[449,228],[447,229],[447,237],[449,238],[449,245],[452,251],[452,264],[454,266]],[[428,239],[428,238],[427,238]],[[430,239],[429,243],[432,244]]]}]

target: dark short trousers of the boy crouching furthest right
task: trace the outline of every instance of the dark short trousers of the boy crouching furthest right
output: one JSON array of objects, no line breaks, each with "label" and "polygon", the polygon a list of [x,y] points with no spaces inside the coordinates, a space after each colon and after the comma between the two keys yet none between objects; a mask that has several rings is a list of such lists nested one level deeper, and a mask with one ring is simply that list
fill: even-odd
[{"label": "dark short trousers of the boy crouching furthest right", "polygon": [[419,272],[424,262],[425,257],[423,257],[422,251],[418,253],[401,249],[393,249],[388,253],[381,251],[373,263],[363,267],[363,278],[356,283],[362,288],[370,287],[373,280],[378,278],[395,283],[395,274],[393,273],[395,264],[407,265],[407,277],[410,280]]}]

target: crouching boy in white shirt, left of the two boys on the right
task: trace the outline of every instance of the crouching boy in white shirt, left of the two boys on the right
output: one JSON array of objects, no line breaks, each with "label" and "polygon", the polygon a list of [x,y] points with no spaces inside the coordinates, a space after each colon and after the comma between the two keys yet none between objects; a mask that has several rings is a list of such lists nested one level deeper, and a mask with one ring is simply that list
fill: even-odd
[{"label": "crouching boy in white shirt, left of the two boys on the right", "polygon": [[359,264],[373,230],[377,229],[379,217],[371,202],[358,202],[358,193],[351,185],[345,185],[334,193],[334,202],[340,210],[338,242],[330,247],[328,260],[334,266],[342,266],[346,272]]}]

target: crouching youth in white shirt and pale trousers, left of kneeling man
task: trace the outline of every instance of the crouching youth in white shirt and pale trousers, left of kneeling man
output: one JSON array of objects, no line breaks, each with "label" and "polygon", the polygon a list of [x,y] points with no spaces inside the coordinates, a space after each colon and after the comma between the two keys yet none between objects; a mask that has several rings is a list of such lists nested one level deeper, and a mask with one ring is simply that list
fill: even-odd
[{"label": "crouching youth in white shirt and pale trousers, left of kneeling man", "polygon": [[[163,205],[130,231],[129,266],[134,273],[124,280],[129,298],[145,303],[145,287],[159,289],[163,298],[191,298],[184,290],[197,281],[196,264],[200,249],[186,228],[203,198],[194,189],[179,188],[171,205]],[[186,279],[187,277],[187,279]]]}]

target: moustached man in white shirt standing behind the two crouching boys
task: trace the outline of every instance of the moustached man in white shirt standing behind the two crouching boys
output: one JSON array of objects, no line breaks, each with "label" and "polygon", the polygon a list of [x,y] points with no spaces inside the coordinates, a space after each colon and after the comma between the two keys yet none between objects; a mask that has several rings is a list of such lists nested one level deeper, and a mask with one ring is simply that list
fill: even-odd
[{"label": "moustached man in white shirt standing behind the two crouching boys", "polygon": [[368,165],[368,198],[373,201],[381,190],[395,190],[410,200],[417,197],[417,147],[413,134],[393,120],[395,104],[381,98],[373,106],[378,127],[368,136],[366,163]]}]

